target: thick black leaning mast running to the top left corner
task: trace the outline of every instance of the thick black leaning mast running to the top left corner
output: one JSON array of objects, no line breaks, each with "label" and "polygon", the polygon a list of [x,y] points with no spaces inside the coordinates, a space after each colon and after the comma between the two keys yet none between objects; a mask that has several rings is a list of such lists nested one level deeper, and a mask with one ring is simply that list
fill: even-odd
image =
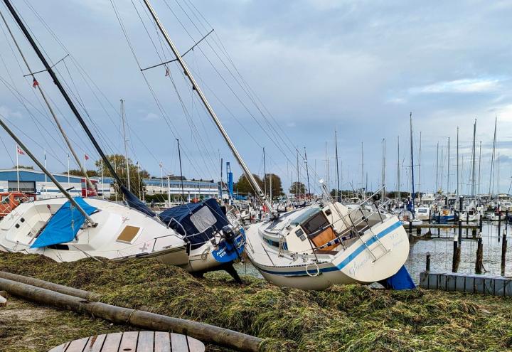
[{"label": "thick black leaning mast running to the top left corner", "polygon": [[36,42],[33,40],[31,34],[28,32],[28,29],[26,28],[23,21],[21,21],[21,18],[16,13],[16,10],[11,5],[11,1],[4,0],[4,4],[6,4],[7,9],[11,12],[12,16],[14,17],[14,20],[16,23],[18,23],[18,26],[20,27],[21,31],[27,38],[28,42],[31,44],[33,50],[38,55],[39,60],[41,60],[41,63],[43,63],[44,67],[46,68],[46,71],[52,78],[55,85],[58,87],[58,90],[60,91],[60,94],[63,95],[65,101],[68,103],[71,111],[73,114],[75,114],[75,117],[78,119],[78,122],[80,122],[80,125],[84,129],[85,133],[87,134],[87,137],[89,137],[92,144],[94,144],[98,154],[102,157],[103,161],[105,161],[105,164],[107,165],[107,169],[109,169],[110,173],[112,174],[112,177],[115,178],[117,182],[119,182],[119,185],[122,185],[122,181],[117,175],[117,173],[114,171],[114,168],[112,167],[112,164],[110,164],[110,161],[107,159],[107,156],[105,156],[105,153],[103,153],[102,149],[100,148],[100,144],[97,143],[95,137],[92,135],[92,132],[90,132],[89,127],[87,127],[87,124],[85,124],[84,119],[82,118],[82,115],[80,115],[80,112],[78,112],[77,108],[75,107],[75,104],[73,103],[73,100],[71,100],[70,96],[68,95],[68,92],[64,89],[63,85],[60,83],[60,80],[58,79],[57,75],[55,75],[55,72],[53,71],[53,68],[50,66],[46,58],[44,57],[41,50],[38,48]]}]

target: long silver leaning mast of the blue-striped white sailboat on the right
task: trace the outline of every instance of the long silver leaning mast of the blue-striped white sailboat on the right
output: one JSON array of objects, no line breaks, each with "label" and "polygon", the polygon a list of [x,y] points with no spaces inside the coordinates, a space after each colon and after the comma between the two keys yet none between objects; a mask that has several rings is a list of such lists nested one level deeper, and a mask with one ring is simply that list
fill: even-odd
[{"label": "long silver leaning mast of the blue-striped white sailboat on the right", "polygon": [[206,99],[206,96],[204,95],[203,90],[201,90],[201,87],[199,87],[199,85],[197,84],[196,79],[193,78],[191,70],[188,69],[188,66],[185,63],[185,60],[183,60],[183,58],[181,57],[181,54],[178,51],[178,48],[176,48],[173,41],[171,41],[169,34],[167,33],[166,29],[164,28],[164,25],[161,23],[158,16],[156,16],[153,6],[151,6],[151,4],[149,3],[149,0],[144,0],[144,4],[146,4],[146,7],[148,8],[149,12],[151,13],[151,16],[153,17],[153,19],[156,23],[156,26],[158,26],[159,30],[164,35],[164,38],[166,39],[166,42],[169,45],[169,48],[171,48],[172,52],[176,56],[176,60],[178,60],[178,63],[181,65],[181,68],[185,72],[186,77],[188,78],[188,80],[190,80],[190,82],[192,84],[192,89],[196,90],[199,98],[201,99],[201,102],[203,102],[203,105],[206,107],[206,110],[210,114],[210,117],[212,117],[213,122],[215,122],[215,124],[217,125],[220,134],[222,134],[222,136],[225,139],[225,142],[228,144],[231,151],[233,152],[233,155],[235,156],[235,159],[237,159],[238,164],[240,164],[240,167],[242,168],[245,176],[247,177],[247,180],[249,181],[252,188],[257,193],[256,194],[257,197],[260,198],[260,201],[262,203],[264,203],[265,206],[267,206],[270,213],[272,213],[272,216],[274,216],[274,218],[277,218],[278,214],[272,208],[272,204],[270,204],[270,202],[267,200],[267,196],[265,195],[265,193],[263,193],[260,185],[256,182],[254,176],[252,176],[250,169],[245,164],[245,161],[243,161],[242,156],[240,156],[240,153],[238,153],[238,150],[235,148],[235,144],[233,144],[230,137],[228,136],[228,133],[225,131],[223,125],[220,123],[220,120],[218,119],[217,114],[215,114],[215,112],[213,111],[213,108],[211,107],[210,103]]}]

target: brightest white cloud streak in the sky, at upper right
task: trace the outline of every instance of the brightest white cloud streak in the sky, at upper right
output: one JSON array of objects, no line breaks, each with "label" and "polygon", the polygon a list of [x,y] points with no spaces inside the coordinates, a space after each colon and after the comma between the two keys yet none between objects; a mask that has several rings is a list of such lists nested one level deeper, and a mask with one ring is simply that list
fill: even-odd
[{"label": "brightest white cloud streak in the sky, at upper right", "polygon": [[491,79],[464,79],[436,82],[432,85],[422,87],[413,87],[410,89],[412,94],[431,94],[431,93],[482,93],[494,92],[500,87],[500,80]]}]

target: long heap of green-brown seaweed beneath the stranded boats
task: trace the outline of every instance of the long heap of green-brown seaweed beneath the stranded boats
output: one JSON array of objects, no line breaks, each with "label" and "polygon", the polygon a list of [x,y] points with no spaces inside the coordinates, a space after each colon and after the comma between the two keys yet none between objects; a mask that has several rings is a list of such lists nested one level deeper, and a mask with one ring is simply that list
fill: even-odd
[{"label": "long heap of green-brown seaweed beneath the stranded boats", "polygon": [[[270,351],[510,351],[512,300],[363,285],[322,292],[223,273],[196,279],[157,260],[56,263],[0,254],[0,270],[86,289],[108,304],[202,321],[265,338]],[[1,341],[1,336],[0,336]],[[63,341],[64,342],[64,341]]]}]

